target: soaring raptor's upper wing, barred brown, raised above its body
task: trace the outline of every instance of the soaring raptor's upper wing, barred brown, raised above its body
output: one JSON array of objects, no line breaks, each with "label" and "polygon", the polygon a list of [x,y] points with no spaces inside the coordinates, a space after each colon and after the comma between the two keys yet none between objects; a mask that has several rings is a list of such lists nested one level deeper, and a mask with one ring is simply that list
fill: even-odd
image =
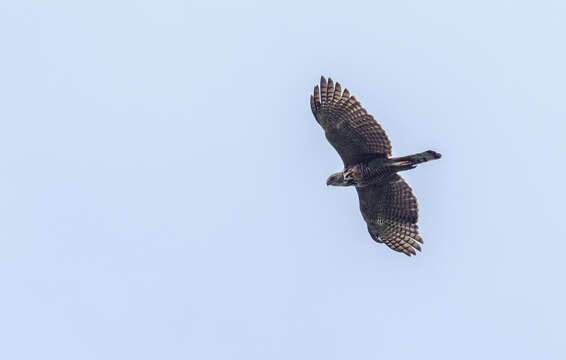
[{"label": "soaring raptor's upper wing, barred brown, raised above its body", "polygon": [[326,138],[338,151],[344,165],[353,165],[374,157],[390,157],[391,143],[385,131],[362,107],[348,89],[342,93],[339,83],[320,78],[314,88],[311,109]]}]

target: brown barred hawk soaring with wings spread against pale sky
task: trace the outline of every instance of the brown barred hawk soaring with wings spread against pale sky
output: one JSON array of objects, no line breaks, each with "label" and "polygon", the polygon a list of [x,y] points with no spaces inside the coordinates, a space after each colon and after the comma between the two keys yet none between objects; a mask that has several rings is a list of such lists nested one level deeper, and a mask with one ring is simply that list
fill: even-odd
[{"label": "brown barred hawk soaring with wings spread against pale sky", "polygon": [[[311,109],[336,149],[344,170],[330,175],[327,185],[355,186],[360,210],[371,238],[408,256],[421,251],[417,199],[411,187],[397,173],[417,164],[440,159],[432,150],[403,157],[391,157],[391,143],[385,131],[348,89],[320,78],[311,95]],[[420,243],[420,244],[419,244]]]}]

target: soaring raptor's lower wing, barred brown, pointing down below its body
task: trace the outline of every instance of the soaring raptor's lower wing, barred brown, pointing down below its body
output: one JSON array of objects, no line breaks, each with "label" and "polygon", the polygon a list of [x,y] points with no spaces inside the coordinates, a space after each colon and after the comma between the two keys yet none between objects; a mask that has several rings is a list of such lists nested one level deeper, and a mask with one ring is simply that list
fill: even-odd
[{"label": "soaring raptor's lower wing, barred brown, pointing down below its body", "polygon": [[418,205],[411,187],[399,175],[391,182],[356,187],[360,211],[373,240],[411,256],[421,250],[417,220]]}]

